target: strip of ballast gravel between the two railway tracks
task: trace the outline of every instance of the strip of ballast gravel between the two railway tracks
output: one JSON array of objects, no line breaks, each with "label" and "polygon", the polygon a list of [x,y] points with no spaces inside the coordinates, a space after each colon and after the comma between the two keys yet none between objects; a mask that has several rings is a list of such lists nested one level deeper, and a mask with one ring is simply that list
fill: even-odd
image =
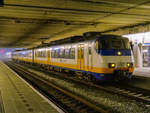
[{"label": "strip of ballast gravel between the two railway tracks", "polygon": [[92,89],[89,86],[79,85],[71,81],[50,76],[40,71],[28,69],[41,77],[45,77],[50,82],[58,84],[69,91],[94,102],[98,106],[103,106],[110,113],[150,113],[150,105],[137,102],[117,94],[110,94],[103,90]]}]

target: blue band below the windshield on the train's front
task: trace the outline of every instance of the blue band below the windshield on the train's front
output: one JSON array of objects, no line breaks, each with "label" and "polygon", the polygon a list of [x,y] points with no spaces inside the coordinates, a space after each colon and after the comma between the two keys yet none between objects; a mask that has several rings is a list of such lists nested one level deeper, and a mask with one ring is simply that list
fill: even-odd
[{"label": "blue band below the windshield on the train's front", "polygon": [[117,50],[117,49],[102,49],[99,50],[98,53],[101,54],[102,56],[118,56],[117,52],[120,51],[122,53],[121,56],[131,56],[131,50],[130,49],[121,49],[121,50]]}]

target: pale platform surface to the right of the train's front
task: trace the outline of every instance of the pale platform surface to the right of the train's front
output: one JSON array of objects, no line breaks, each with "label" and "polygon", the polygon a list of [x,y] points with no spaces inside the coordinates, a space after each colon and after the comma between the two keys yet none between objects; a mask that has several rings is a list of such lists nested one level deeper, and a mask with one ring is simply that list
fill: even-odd
[{"label": "pale platform surface to the right of the train's front", "polygon": [[133,75],[150,77],[150,67],[135,68]]}]

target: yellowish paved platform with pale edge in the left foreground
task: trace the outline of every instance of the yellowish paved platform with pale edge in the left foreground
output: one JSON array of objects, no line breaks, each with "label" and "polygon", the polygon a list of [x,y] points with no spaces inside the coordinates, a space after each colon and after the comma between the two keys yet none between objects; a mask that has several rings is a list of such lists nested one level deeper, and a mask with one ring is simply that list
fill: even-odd
[{"label": "yellowish paved platform with pale edge in the left foreground", "polygon": [[0,113],[63,112],[0,62]]}]

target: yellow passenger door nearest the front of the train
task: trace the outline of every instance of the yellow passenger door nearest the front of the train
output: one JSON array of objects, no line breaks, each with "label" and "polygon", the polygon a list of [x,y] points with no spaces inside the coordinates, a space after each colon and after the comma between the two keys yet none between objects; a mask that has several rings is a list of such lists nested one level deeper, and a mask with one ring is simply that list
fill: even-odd
[{"label": "yellow passenger door nearest the front of the train", "polygon": [[80,70],[84,70],[84,45],[78,46],[78,66]]}]

